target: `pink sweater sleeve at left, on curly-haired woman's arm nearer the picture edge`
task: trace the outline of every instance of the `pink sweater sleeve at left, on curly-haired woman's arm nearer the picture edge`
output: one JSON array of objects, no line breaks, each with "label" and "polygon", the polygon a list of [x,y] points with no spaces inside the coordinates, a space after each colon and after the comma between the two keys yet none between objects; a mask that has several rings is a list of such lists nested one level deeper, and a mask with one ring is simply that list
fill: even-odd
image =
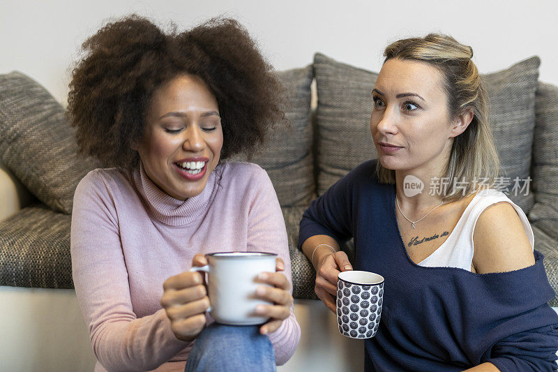
[{"label": "pink sweater sleeve at left, on curly-haired woman's arm nearer the picture edge", "polygon": [[70,251],[75,292],[93,352],[107,371],[149,371],[188,346],[164,309],[137,318],[112,195],[96,171],[74,196]]}]

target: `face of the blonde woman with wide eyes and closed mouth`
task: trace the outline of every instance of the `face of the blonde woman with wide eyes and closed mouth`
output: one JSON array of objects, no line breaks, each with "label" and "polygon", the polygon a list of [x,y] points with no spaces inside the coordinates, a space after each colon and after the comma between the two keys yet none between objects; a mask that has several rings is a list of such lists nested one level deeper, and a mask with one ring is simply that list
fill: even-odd
[{"label": "face of the blonde woman with wide eyes and closed mouth", "polygon": [[453,137],[469,123],[450,119],[443,78],[422,61],[389,59],[382,66],[372,91],[370,131],[385,168],[425,168],[430,174],[445,169]]}]

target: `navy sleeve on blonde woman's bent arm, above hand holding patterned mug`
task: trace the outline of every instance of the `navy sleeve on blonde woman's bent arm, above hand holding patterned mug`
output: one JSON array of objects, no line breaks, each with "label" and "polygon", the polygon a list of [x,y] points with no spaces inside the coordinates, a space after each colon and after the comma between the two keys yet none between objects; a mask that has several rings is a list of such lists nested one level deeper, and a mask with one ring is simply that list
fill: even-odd
[{"label": "navy sleeve on blonde woman's bent arm, above hand holding patterned mug", "polygon": [[314,235],[329,235],[339,245],[352,237],[352,185],[356,168],[312,200],[304,212],[299,231],[299,248]]}]

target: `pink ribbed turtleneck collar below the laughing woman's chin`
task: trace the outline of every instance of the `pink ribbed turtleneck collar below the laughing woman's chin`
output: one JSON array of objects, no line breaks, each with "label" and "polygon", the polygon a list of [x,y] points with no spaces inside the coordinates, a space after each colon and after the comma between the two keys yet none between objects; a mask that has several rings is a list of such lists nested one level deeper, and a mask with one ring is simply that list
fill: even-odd
[{"label": "pink ribbed turtleneck collar below the laughing woman's chin", "polygon": [[216,173],[219,172],[219,168],[220,165],[209,174],[202,193],[186,200],[175,199],[154,184],[147,177],[141,161],[140,167],[133,171],[132,177],[150,214],[166,225],[181,226],[195,221],[204,213],[207,204],[217,190]]}]

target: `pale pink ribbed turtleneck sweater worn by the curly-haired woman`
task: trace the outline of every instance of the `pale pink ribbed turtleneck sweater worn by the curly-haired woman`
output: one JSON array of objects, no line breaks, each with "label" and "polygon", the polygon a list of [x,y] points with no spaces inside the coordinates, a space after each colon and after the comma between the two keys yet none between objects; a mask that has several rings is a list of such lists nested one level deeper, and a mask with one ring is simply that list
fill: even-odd
[{"label": "pale pink ribbed turtleneck sweater worn by the curly-haired woman", "polygon": [[[75,191],[71,254],[95,371],[183,371],[195,341],[172,333],[163,282],[190,269],[196,253],[216,251],[278,253],[291,282],[285,221],[258,165],[224,162],[186,201],[161,191],[142,167],[89,172]],[[269,339],[277,364],[287,362],[300,339],[292,310]]]}]

